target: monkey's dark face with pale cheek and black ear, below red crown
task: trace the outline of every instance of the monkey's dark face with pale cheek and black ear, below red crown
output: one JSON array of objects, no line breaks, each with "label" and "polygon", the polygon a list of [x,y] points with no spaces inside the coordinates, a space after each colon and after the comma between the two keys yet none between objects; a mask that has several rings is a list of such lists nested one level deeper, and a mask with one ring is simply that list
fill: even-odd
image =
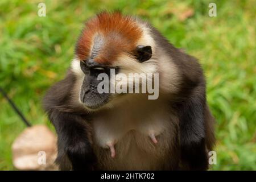
[{"label": "monkey's dark face with pale cheek and black ear, below red crown", "polygon": [[[144,72],[143,68],[147,69],[148,64],[143,63],[151,58],[152,50],[150,46],[138,46],[133,53],[133,58],[123,55],[112,65],[97,63],[93,57],[80,61],[80,69],[84,75],[79,94],[80,102],[89,109],[96,110],[127,94],[128,85],[131,82],[134,85],[134,78],[131,78],[131,75],[141,74]],[[120,76],[126,78],[122,80]],[[117,92],[117,84],[126,90]]]}]

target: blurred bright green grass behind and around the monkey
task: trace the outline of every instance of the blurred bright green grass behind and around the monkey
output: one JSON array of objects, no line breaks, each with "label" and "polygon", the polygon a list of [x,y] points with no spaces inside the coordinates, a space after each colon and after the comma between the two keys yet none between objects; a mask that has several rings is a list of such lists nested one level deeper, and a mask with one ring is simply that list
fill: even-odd
[{"label": "blurred bright green grass behind and around the monkey", "polygon": [[[38,3],[46,3],[46,17]],[[209,3],[217,17],[209,17]],[[256,2],[249,1],[0,1],[0,86],[35,125],[51,126],[42,98],[64,77],[84,22],[102,9],[149,20],[176,47],[196,56],[207,77],[216,117],[213,170],[256,169]],[[182,19],[189,11],[193,15]],[[52,128],[52,126],[51,126]],[[25,129],[0,96],[0,169],[14,169],[11,143]]]}]

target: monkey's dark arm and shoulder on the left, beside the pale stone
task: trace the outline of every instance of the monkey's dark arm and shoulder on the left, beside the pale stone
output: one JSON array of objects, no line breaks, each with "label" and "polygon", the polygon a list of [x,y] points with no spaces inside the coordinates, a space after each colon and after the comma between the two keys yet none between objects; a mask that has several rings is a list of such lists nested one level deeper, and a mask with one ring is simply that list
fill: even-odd
[{"label": "monkey's dark arm and shoulder on the left, beside the pale stone", "polygon": [[89,170],[94,163],[90,126],[81,113],[72,111],[70,99],[74,82],[75,77],[69,72],[64,80],[53,85],[44,97],[44,109],[58,135],[56,162],[60,169]]}]

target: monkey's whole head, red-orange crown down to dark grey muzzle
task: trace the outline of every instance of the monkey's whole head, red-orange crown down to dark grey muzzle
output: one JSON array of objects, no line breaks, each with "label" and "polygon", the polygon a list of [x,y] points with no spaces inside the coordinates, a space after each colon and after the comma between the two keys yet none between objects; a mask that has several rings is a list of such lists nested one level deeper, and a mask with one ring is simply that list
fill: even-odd
[{"label": "monkey's whole head, red-orange crown down to dark grey muzzle", "polygon": [[113,85],[121,81],[127,86],[131,81],[120,76],[129,78],[130,73],[155,73],[151,47],[154,51],[150,33],[133,18],[103,13],[89,20],[77,41],[76,60],[72,63],[79,76],[80,102],[95,110],[127,95],[115,92]]}]

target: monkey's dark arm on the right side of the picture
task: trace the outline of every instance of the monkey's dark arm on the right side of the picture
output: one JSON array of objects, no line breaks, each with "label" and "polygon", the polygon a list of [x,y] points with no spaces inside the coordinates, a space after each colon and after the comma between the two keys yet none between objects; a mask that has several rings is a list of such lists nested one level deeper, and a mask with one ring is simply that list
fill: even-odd
[{"label": "monkey's dark arm on the right side of the picture", "polygon": [[179,106],[181,160],[184,169],[208,169],[205,147],[205,93],[197,86]]}]

